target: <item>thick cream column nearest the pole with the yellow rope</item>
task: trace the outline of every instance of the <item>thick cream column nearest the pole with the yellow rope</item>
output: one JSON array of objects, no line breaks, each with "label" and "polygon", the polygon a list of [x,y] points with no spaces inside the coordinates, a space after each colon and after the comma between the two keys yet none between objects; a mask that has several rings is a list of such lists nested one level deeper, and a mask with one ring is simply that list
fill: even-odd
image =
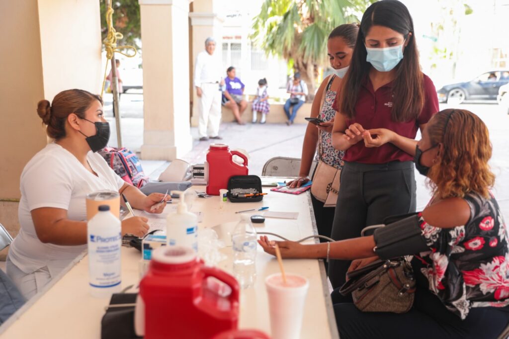
[{"label": "thick cream column nearest the pole with the yellow rope", "polygon": [[138,0],[142,23],[142,159],[173,160],[192,148],[187,0]]}]

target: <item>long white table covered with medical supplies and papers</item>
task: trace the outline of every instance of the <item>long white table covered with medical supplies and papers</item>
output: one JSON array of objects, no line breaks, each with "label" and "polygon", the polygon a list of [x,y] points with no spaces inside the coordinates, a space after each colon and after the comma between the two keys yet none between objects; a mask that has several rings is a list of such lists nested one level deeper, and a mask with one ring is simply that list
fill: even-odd
[{"label": "long white table covered with medical supplies and papers", "polygon": [[[204,191],[205,186],[191,190]],[[270,192],[268,188],[264,191]],[[232,224],[240,220],[235,211],[269,206],[271,211],[299,212],[298,219],[266,218],[264,224],[254,224],[259,232],[273,232],[297,240],[316,234],[315,220],[309,193],[300,195],[270,192],[259,203],[224,203],[219,209],[219,197],[196,198],[191,211],[202,211],[199,228],[213,227],[219,223]],[[255,214],[254,212],[252,212]],[[260,214],[260,212],[256,212]],[[309,240],[308,243],[313,242]],[[232,248],[225,247],[227,260],[218,267],[232,272]],[[138,283],[140,252],[122,248],[122,286]],[[268,300],[264,279],[278,272],[274,257],[258,246],[257,280],[254,287],[242,290],[240,299],[239,328],[256,328],[270,333]],[[338,338],[323,263],[318,260],[284,260],[285,270],[309,279],[301,338]],[[41,293],[32,298],[0,327],[5,338],[99,338],[101,318],[109,298],[94,298],[89,294],[88,257],[83,253],[59,277],[52,280]]]}]

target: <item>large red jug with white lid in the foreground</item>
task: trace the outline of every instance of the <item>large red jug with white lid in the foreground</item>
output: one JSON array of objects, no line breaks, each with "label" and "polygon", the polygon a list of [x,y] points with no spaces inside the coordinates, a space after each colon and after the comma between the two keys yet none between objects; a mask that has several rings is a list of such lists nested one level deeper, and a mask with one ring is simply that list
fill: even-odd
[{"label": "large red jug with white lid in the foreground", "polygon": [[205,266],[191,248],[155,249],[149,271],[139,284],[139,296],[144,304],[146,339],[209,339],[237,328],[237,280]]}]

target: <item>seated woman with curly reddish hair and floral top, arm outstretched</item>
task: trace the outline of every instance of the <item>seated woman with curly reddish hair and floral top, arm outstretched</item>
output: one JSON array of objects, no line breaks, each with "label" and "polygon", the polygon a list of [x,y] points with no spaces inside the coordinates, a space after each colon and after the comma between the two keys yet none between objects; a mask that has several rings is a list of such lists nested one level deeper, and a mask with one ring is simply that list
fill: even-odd
[{"label": "seated woman with curly reddish hair and floral top, arm outstretched", "polygon": [[[415,215],[378,228],[372,236],[314,245],[278,242],[286,258],[355,260],[349,271],[376,259],[414,255],[412,309],[404,314],[362,313],[351,296],[332,293],[342,338],[496,338],[509,322],[507,229],[489,189],[491,144],[472,112],[446,109],[428,123],[414,162],[433,189]],[[274,253],[274,241],[260,245]]]}]

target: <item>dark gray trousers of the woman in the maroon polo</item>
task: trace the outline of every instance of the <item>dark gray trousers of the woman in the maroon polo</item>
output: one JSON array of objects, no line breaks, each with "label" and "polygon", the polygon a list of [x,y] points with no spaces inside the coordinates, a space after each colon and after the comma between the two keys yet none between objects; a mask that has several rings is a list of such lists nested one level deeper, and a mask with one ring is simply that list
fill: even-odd
[{"label": "dark gray trousers of the woman in the maroon polo", "polygon": [[[357,238],[364,227],[383,223],[388,216],[415,212],[415,191],[412,161],[384,164],[345,162],[331,238]],[[345,260],[329,261],[328,275],[334,289],[345,284],[350,263]]]}]

